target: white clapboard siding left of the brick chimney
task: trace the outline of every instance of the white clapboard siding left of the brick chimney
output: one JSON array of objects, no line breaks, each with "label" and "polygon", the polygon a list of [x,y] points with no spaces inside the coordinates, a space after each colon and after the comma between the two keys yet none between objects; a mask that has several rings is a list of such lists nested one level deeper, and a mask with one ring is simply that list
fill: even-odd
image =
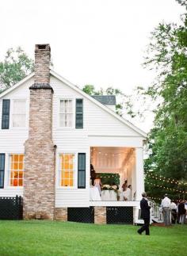
[{"label": "white clapboard siding left of the brick chimney", "polygon": [[[27,82],[12,90],[0,99],[0,153],[6,154],[6,167],[5,167],[5,181],[4,189],[0,189],[0,197],[15,197],[16,195],[22,196],[22,188],[13,188],[9,186],[9,154],[10,153],[24,153],[25,140],[29,135],[29,86],[32,86],[34,80],[30,78]],[[10,99],[10,128],[2,130],[2,99]],[[25,99],[26,100],[26,127],[25,128],[12,128],[11,123],[11,110],[13,105],[11,100]]]}]

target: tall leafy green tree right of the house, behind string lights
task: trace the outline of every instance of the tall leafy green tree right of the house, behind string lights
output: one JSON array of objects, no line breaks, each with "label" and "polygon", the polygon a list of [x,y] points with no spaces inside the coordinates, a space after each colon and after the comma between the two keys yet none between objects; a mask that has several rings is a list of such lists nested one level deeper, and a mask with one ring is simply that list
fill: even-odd
[{"label": "tall leafy green tree right of the house, behind string lights", "polygon": [[[185,1],[177,2],[187,8]],[[170,197],[186,197],[187,13],[181,17],[181,21],[181,25],[158,25],[152,32],[144,63],[145,67],[157,71],[157,80],[147,90],[143,90],[143,94],[158,102],[155,127],[148,138],[150,155],[145,162],[148,193],[158,197],[163,192],[169,192]],[[162,175],[166,179],[155,180],[154,175]],[[169,182],[169,178],[177,182]]]}]

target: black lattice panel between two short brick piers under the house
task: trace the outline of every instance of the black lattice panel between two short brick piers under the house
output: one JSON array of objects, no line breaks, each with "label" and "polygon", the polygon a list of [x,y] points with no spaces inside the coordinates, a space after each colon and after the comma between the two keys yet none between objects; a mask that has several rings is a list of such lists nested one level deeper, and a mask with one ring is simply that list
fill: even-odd
[{"label": "black lattice panel between two short brick piers under the house", "polygon": [[67,220],[82,223],[94,223],[94,208],[67,208]]}]

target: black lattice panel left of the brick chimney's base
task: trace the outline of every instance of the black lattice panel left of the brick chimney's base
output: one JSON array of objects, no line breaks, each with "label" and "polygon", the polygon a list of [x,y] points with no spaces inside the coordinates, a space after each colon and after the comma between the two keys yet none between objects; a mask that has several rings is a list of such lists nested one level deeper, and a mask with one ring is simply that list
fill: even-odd
[{"label": "black lattice panel left of the brick chimney's base", "polygon": [[0,220],[21,220],[22,218],[21,197],[0,197]]}]

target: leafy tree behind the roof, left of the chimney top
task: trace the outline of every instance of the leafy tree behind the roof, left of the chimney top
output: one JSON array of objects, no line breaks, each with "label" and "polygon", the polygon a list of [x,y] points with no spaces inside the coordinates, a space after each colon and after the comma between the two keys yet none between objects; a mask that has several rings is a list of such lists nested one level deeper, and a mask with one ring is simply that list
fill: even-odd
[{"label": "leafy tree behind the roof, left of the chimney top", "polygon": [[33,61],[20,47],[8,49],[4,61],[0,62],[0,88],[13,86],[32,71]]}]

